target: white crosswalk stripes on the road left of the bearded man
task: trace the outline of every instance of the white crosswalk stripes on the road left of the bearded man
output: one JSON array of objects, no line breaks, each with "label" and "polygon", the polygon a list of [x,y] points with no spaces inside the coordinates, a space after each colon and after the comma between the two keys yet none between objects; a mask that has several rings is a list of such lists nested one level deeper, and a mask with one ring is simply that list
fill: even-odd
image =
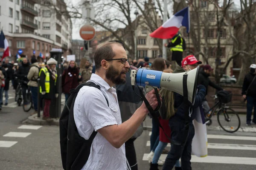
[{"label": "white crosswalk stripes on the road left of the bearded man", "polygon": [[[39,126],[39,125],[21,125],[21,126],[17,127],[17,129],[38,130],[41,127],[42,126]],[[3,140],[0,140],[0,148],[1,147],[12,147],[13,145],[17,144],[18,142],[12,141],[12,138],[17,140],[17,138],[26,138],[31,134],[32,134],[32,132],[15,132],[15,131],[6,133],[5,135],[3,135],[3,137],[0,137],[0,139],[3,139]]]}]

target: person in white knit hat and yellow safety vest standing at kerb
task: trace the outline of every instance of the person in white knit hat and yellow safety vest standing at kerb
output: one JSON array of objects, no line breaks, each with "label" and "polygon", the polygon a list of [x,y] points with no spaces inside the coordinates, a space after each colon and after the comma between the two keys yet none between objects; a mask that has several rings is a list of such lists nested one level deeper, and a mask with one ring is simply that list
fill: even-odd
[{"label": "person in white knit hat and yellow safety vest standing at kerb", "polygon": [[[40,93],[44,99],[44,114],[43,119],[52,121],[50,118],[50,105],[55,105],[55,98],[58,98],[58,81],[56,71],[57,61],[50,58],[47,61],[45,68],[41,68],[39,72],[40,77]],[[52,114],[51,114],[52,115]]]}]

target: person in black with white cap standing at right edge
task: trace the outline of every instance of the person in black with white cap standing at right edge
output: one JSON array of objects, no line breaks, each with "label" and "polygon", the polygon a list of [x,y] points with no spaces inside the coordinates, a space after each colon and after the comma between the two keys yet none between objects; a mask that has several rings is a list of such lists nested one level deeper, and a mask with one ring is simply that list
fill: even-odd
[{"label": "person in black with white cap standing at right edge", "polygon": [[244,77],[244,83],[242,88],[242,95],[245,100],[247,100],[247,115],[246,115],[246,125],[251,125],[251,117],[253,113],[253,123],[256,124],[256,64],[250,65],[250,73],[246,74]]}]

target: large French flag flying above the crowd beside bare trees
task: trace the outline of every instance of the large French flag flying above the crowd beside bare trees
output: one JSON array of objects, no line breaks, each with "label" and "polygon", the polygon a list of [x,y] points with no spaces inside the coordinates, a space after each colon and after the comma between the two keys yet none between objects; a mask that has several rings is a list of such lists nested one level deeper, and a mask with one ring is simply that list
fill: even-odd
[{"label": "large French flag flying above the crowd beside bare trees", "polygon": [[189,33],[189,7],[186,7],[178,11],[176,14],[174,14],[174,16],[172,16],[169,20],[163,23],[162,26],[157,28],[154,32],[152,32],[149,35],[153,38],[169,39],[175,36],[175,34],[177,34],[181,26],[185,26],[186,32]]}]

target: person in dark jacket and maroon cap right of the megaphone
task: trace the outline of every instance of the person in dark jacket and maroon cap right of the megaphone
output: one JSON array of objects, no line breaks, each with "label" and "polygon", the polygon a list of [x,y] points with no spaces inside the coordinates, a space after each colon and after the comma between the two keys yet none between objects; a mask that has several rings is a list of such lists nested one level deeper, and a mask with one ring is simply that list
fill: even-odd
[{"label": "person in dark jacket and maroon cap right of the megaphone", "polygon": [[[211,68],[210,65],[204,65],[202,67],[202,70],[199,72],[199,78],[198,78],[198,85],[204,85],[206,88],[206,95],[207,95],[207,88],[208,85],[212,86],[213,88],[215,88],[217,91],[221,91],[223,90],[223,88],[221,88],[221,86],[216,85],[214,82],[212,82],[209,79],[209,76],[212,72],[213,68]],[[209,104],[206,100],[206,98],[204,98],[204,101],[202,102],[203,108],[204,108],[204,112],[208,112],[210,110]]]}]

